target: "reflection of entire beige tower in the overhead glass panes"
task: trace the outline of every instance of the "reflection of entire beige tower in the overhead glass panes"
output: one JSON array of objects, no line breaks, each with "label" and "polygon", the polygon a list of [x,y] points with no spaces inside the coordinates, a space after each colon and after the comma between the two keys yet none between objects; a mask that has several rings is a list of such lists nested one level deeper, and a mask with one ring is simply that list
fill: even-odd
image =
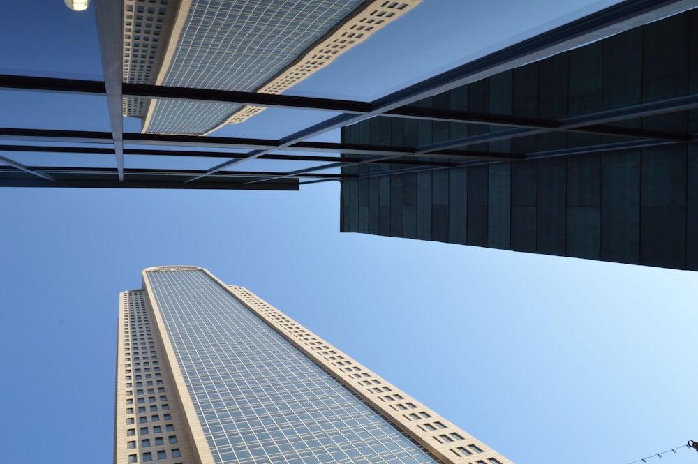
[{"label": "reflection of entire beige tower in the overhead glass panes", "polygon": [[[124,82],[281,93],[421,0],[125,0]],[[144,133],[201,135],[264,110],[124,98]]]}]

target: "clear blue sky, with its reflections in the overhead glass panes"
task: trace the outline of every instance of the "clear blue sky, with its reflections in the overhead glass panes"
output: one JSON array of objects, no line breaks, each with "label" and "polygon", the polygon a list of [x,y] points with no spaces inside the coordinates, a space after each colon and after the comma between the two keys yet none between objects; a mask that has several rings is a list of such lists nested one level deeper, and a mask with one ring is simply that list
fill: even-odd
[{"label": "clear blue sky, with its reflections in the overhead glass panes", "polygon": [[[0,72],[101,79],[92,10],[6,3]],[[609,3],[424,0],[290,93],[376,98]],[[108,128],[102,98],[0,91],[0,108],[3,127]],[[267,110],[224,135],[322,116]],[[340,234],[335,183],[0,198],[3,463],[112,461],[118,293],[162,264],[248,287],[517,464],[627,464],[698,440],[693,272]]]}]

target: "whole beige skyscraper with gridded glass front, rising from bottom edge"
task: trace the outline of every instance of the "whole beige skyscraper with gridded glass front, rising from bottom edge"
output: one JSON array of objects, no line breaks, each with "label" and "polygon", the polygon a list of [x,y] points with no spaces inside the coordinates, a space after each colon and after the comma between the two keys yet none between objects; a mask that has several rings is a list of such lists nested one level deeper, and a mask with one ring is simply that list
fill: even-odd
[{"label": "whole beige skyscraper with gridded glass front, rising from bottom edge", "polygon": [[119,304],[115,463],[511,463],[243,287],[142,276]]}]

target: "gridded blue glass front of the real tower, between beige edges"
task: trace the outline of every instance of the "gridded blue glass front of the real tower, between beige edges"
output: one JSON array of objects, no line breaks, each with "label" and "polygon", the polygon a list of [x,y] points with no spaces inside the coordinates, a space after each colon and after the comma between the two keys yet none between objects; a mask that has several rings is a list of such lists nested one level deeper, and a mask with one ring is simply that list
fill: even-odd
[{"label": "gridded blue glass front of the real tower, between beige edges", "polygon": [[148,271],[216,463],[438,463],[202,270]]}]

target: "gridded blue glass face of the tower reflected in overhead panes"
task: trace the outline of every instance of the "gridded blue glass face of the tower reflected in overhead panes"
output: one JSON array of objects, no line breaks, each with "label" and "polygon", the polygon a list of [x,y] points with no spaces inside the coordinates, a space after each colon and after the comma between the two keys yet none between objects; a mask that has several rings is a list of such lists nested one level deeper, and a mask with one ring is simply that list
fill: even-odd
[{"label": "gridded blue glass face of the tower reflected in overhead panes", "polygon": [[[163,85],[255,91],[362,0],[193,0]],[[205,133],[241,105],[158,100],[146,130]]]}]

